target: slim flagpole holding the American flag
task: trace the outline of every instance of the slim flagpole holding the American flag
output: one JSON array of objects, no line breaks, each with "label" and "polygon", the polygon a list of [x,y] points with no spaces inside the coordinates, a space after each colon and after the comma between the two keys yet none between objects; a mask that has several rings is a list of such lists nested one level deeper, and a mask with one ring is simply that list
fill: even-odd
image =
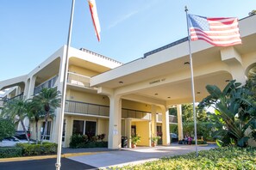
[{"label": "slim flagpole holding the American flag", "polygon": [[188,18],[188,10],[187,6],[185,6],[185,13],[187,19],[187,28],[188,28],[188,39],[189,39],[189,51],[190,51],[190,73],[191,73],[191,90],[192,90],[192,98],[193,98],[193,115],[194,115],[194,128],[195,128],[195,142],[196,142],[196,153],[198,156],[197,150],[197,116],[196,116],[196,100],[195,100],[195,87],[194,87],[194,71],[193,71],[193,60],[191,54],[191,39],[190,39],[190,27],[189,27],[189,18]]}]

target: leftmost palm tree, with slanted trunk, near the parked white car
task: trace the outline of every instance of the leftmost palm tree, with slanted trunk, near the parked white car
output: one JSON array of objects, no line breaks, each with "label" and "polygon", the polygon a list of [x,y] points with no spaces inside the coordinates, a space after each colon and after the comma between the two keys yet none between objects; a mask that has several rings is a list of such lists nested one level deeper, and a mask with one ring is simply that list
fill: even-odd
[{"label": "leftmost palm tree, with slanted trunk, near the parked white car", "polygon": [[23,122],[23,119],[28,117],[28,100],[23,99],[13,99],[6,102],[3,107],[3,118],[10,118],[13,122],[21,122],[23,131],[25,132],[28,143],[30,143],[28,138],[28,132]]}]

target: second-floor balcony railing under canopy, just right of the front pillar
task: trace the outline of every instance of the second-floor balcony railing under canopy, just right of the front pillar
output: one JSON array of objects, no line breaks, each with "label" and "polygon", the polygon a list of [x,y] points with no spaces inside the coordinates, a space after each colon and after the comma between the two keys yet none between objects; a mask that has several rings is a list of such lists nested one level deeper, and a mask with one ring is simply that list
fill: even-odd
[{"label": "second-floor balcony railing under canopy, just right of the front pillar", "polygon": [[151,120],[151,112],[122,109],[122,118],[140,118],[140,119]]}]

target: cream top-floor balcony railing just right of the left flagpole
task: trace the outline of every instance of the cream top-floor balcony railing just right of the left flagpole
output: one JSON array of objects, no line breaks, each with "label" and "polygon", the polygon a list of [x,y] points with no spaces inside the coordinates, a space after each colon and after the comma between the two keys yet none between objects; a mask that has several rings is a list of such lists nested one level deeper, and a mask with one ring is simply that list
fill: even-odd
[{"label": "cream top-floor balcony railing just right of the left flagpole", "polygon": [[76,73],[72,73],[72,72],[68,72],[68,76],[67,76],[67,82],[74,84],[74,85],[78,85],[78,86],[82,86],[84,88],[91,88],[90,87],[90,76],[83,76],[83,75],[78,75]]}]

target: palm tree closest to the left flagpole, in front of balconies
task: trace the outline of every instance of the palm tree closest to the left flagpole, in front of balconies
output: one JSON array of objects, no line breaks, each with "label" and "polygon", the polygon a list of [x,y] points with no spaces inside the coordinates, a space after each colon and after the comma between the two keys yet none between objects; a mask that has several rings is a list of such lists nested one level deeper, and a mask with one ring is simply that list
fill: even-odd
[{"label": "palm tree closest to the left flagpole, in front of balconies", "polygon": [[45,128],[41,137],[41,143],[44,140],[47,133],[48,118],[50,118],[51,109],[56,109],[60,106],[60,92],[56,88],[42,88],[38,95],[34,96],[34,101],[41,105],[45,111]]}]

